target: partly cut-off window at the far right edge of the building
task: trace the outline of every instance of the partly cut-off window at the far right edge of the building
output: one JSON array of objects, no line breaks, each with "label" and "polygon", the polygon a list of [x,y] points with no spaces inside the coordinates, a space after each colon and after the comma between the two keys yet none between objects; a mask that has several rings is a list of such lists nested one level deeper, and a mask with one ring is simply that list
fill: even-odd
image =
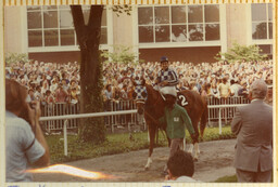
[{"label": "partly cut-off window at the far right edge of the building", "polygon": [[252,39],[273,39],[273,4],[252,4]]}]

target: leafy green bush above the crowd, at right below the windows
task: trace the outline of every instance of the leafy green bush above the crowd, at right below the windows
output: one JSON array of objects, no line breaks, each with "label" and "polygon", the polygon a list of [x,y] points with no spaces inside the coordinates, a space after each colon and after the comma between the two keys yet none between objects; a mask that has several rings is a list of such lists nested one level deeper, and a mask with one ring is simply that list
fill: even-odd
[{"label": "leafy green bush above the crowd, at right below the windows", "polygon": [[228,61],[229,63],[235,63],[237,61],[242,62],[251,62],[251,61],[262,61],[267,57],[266,54],[260,54],[262,50],[255,45],[240,45],[237,42],[233,42],[232,48],[228,50],[226,53],[219,52],[215,59],[223,61],[222,56],[225,61]]}]

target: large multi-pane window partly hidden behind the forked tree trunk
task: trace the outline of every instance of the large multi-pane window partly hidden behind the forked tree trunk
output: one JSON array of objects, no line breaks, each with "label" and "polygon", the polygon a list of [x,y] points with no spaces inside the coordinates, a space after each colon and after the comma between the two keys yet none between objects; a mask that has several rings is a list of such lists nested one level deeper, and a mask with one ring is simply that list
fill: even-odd
[{"label": "large multi-pane window partly hidden behind the forked tree trunk", "polygon": [[[88,23],[90,6],[84,5],[85,23]],[[70,5],[27,6],[28,46],[77,45]],[[106,10],[102,13],[101,44],[108,43]]]}]

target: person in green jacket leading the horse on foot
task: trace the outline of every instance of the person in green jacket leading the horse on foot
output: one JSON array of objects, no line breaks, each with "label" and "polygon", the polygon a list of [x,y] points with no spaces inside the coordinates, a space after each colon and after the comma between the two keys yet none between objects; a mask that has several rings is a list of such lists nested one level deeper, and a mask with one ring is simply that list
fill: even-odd
[{"label": "person in green jacket leading the horse on foot", "polygon": [[[161,124],[166,124],[166,133],[170,139],[169,145],[169,158],[180,149],[180,145],[186,135],[186,129],[192,137],[195,136],[194,129],[187,110],[176,103],[177,92],[174,90],[165,91],[166,107],[164,109],[164,116],[160,118]],[[163,174],[166,174],[167,168],[165,165]]]}]

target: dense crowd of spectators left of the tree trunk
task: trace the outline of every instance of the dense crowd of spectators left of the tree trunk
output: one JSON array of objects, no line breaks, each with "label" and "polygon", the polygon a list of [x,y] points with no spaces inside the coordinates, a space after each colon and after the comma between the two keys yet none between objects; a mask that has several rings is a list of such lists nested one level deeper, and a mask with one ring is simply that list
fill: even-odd
[{"label": "dense crowd of spectators left of the tree trunk", "polygon": [[17,62],[5,68],[5,78],[27,86],[29,102],[39,101],[42,105],[78,103],[80,86],[77,63]]}]

